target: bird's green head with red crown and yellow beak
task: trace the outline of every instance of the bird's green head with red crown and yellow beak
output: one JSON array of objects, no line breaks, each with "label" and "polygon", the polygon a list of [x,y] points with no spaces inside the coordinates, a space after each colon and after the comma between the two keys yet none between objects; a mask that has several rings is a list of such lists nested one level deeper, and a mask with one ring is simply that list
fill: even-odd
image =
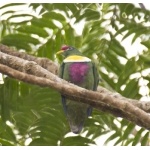
[{"label": "bird's green head with red crown and yellow beak", "polygon": [[61,54],[65,57],[75,54],[81,54],[76,48],[68,45],[64,45],[61,47],[60,51],[58,51],[56,54]]}]

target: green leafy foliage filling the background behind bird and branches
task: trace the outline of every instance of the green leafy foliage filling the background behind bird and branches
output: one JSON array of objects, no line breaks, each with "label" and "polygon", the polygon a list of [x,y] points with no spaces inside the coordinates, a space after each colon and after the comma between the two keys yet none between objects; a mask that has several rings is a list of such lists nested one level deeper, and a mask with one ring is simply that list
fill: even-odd
[{"label": "green leafy foliage filling the background behind bird and branches", "polygon": [[[149,10],[131,3],[13,3],[1,6],[0,10],[2,44],[58,63],[62,58],[56,58],[55,53],[63,44],[73,45],[97,63],[101,86],[129,98],[149,97]],[[145,46],[131,58],[128,47],[122,45],[128,37],[131,43],[140,40]],[[95,145],[98,138],[108,133],[104,144],[150,144],[148,130],[97,110],[85,122],[80,135],[70,134],[57,91],[7,76],[3,80],[1,145]],[[145,84],[141,85],[141,81]],[[143,87],[147,93],[140,92]]]}]

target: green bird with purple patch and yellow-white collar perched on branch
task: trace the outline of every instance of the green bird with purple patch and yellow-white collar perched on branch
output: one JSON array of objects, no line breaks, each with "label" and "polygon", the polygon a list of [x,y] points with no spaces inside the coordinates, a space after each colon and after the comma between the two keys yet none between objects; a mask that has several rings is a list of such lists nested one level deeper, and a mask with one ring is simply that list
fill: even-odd
[{"label": "green bird with purple patch and yellow-white collar perched on branch", "polygon": [[[96,91],[99,83],[97,67],[92,60],[84,56],[73,46],[63,45],[56,55],[64,59],[59,67],[59,77],[82,88]],[[88,104],[67,99],[61,95],[62,106],[73,133],[79,134],[85,119],[92,114]]]}]

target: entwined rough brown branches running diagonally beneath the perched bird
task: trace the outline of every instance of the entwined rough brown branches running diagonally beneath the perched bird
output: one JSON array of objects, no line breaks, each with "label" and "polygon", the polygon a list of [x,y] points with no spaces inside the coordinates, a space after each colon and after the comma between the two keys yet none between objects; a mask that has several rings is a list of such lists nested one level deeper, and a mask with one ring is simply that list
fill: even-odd
[{"label": "entwined rough brown branches running diagonally beneath the perched bird", "polygon": [[[150,112],[150,107],[147,107],[150,106],[150,103],[127,99],[119,94],[111,93],[102,87],[99,87],[97,92],[78,87],[60,79],[52,71],[49,72],[50,68],[49,71],[44,69],[40,66],[40,63],[38,65],[33,59],[32,61],[28,61],[19,58],[19,52],[13,53],[13,56],[11,56],[12,53],[8,54],[7,51],[7,49],[10,49],[3,45],[2,47],[1,50],[0,45],[1,73],[27,83],[54,88],[72,100],[90,104],[96,109],[109,112],[117,117],[125,118],[139,126],[145,127],[148,130],[150,129],[150,116],[147,113]],[[4,47],[6,48],[5,50]]]}]

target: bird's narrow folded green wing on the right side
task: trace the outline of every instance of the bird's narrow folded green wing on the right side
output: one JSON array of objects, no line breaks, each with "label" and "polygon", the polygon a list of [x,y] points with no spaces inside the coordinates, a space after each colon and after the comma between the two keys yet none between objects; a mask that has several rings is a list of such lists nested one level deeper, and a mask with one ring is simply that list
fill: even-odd
[{"label": "bird's narrow folded green wing on the right side", "polygon": [[93,88],[93,90],[96,91],[97,87],[98,87],[98,83],[99,83],[99,74],[98,74],[98,70],[97,70],[95,63],[93,63],[93,74],[94,74],[94,88]]}]

